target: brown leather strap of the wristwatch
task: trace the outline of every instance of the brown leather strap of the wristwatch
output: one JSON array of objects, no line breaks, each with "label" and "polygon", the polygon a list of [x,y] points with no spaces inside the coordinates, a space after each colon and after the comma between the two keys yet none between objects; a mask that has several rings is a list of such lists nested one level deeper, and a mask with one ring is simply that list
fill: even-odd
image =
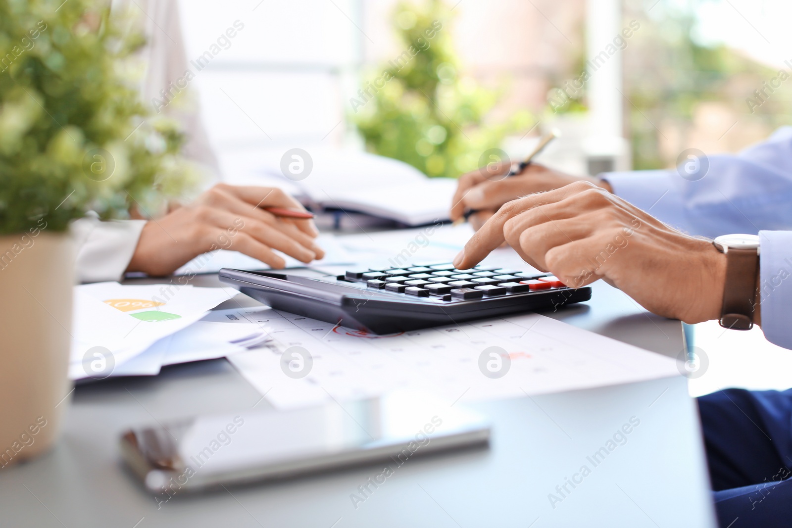
[{"label": "brown leather strap of the wristwatch", "polygon": [[756,249],[726,250],[726,283],[723,288],[721,325],[729,329],[750,330],[756,303]]}]

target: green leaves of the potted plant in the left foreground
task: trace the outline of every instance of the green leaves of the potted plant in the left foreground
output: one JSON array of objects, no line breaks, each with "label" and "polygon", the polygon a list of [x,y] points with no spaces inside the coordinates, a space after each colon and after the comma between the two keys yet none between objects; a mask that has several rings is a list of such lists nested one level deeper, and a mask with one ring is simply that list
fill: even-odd
[{"label": "green leaves of the potted plant in the left foreground", "polygon": [[122,18],[109,2],[0,0],[0,234],[124,218],[195,180],[175,124],[139,100],[144,40]]}]

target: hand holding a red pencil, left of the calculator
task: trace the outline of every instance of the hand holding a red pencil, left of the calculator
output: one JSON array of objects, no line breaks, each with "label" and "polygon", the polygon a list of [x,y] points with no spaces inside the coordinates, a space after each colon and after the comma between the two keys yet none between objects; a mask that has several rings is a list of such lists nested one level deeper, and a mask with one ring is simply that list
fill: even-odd
[{"label": "hand holding a red pencil, left of the calculator", "polygon": [[272,249],[306,263],[325,255],[314,243],[312,220],[279,218],[262,208],[268,206],[304,211],[279,188],[215,185],[195,203],[147,222],[127,271],[169,275],[215,249],[245,253],[272,268],[286,264]]}]

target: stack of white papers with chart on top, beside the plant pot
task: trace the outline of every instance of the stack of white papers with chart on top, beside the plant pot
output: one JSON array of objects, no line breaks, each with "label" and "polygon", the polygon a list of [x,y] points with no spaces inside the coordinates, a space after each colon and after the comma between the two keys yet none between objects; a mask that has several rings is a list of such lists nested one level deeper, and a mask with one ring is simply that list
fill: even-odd
[{"label": "stack of white papers with chart on top, beside the plant pot", "polygon": [[244,338],[246,329],[200,321],[236,294],[234,288],[173,283],[74,287],[69,376],[153,375],[163,365],[246,350],[244,341],[232,342]]}]

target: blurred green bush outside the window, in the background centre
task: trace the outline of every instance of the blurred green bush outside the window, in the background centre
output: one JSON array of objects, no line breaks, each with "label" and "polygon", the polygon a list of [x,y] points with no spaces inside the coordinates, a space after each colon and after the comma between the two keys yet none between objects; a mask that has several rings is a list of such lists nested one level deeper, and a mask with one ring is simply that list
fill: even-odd
[{"label": "blurred green bush outside the window, in the background centre", "polygon": [[368,150],[406,161],[429,177],[477,169],[485,150],[532,121],[518,112],[505,123],[485,122],[500,93],[459,75],[450,19],[441,0],[400,2],[394,28],[404,52],[368,74],[350,101],[349,118]]}]

